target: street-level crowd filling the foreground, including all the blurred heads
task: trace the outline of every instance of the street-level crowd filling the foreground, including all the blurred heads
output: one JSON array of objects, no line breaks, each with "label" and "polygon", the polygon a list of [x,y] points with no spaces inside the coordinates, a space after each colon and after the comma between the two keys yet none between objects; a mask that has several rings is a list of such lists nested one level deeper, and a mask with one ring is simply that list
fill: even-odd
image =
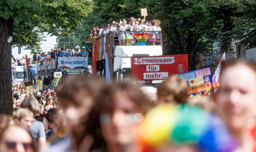
[{"label": "street-level crowd filling the foreground, including all the blurred heads", "polygon": [[83,76],[32,94],[16,85],[13,109],[0,119],[0,150],[253,152],[256,67],[222,62],[219,80],[214,98],[191,98],[176,75],[158,86],[157,98],[138,85]]}]

